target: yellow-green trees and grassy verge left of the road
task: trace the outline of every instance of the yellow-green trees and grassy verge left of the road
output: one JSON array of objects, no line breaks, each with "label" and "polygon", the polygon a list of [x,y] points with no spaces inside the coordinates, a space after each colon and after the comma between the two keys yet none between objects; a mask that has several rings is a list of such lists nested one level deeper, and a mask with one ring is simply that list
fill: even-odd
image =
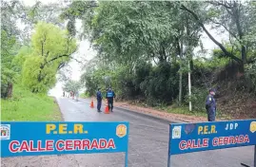
[{"label": "yellow-green trees and grassy verge left of the road", "polygon": [[[40,2],[33,7],[20,1],[1,4],[1,120],[61,121],[48,92],[77,47],[58,19],[61,8]],[[17,27],[17,19],[24,29]]]}]

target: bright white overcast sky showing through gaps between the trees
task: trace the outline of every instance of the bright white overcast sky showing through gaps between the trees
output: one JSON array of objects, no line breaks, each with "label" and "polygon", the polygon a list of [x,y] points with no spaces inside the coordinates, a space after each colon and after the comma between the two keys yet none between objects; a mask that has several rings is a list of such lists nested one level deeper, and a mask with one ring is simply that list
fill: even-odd
[{"label": "bright white overcast sky showing through gaps between the trees", "polygon": [[[22,1],[24,2],[24,4],[26,6],[33,6],[36,3],[36,0],[22,0]],[[43,4],[56,3],[56,2],[65,3],[65,2],[69,2],[69,0],[40,0],[40,2],[42,2]],[[82,26],[81,22],[78,21],[76,23],[77,30],[81,30],[81,26]],[[209,30],[209,27],[207,27],[207,29]],[[210,33],[219,42],[222,42],[222,40],[227,38],[227,34],[218,34],[215,29],[211,29]],[[205,49],[208,50],[208,53],[210,50],[217,47],[207,37],[206,33],[203,33],[201,40],[203,41],[203,45],[204,45]],[[78,44],[79,44],[78,51],[76,54],[73,55],[73,57],[75,57],[79,60],[82,57],[83,57],[83,59],[90,60],[91,58],[93,58],[96,55],[96,52],[92,48],[90,48],[88,40],[78,41]],[[197,50],[199,50],[199,48],[197,48]],[[207,57],[208,57],[208,55],[207,55]],[[70,61],[69,65],[71,67],[71,76],[70,76],[71,79],[78,81],[81,76],[81,65],[73,60]],[[63,83],[60,83],[60,82],[56,83],[55,87],[53,89],[51,89],[49,91],[49,93],[54,96],[61,96],[62,95],[62,84]]]}]

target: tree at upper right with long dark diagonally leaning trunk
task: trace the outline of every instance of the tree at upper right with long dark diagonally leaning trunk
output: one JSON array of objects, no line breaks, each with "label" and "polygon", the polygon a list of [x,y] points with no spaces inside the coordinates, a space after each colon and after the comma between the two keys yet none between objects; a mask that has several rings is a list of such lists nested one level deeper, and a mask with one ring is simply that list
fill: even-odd
[{"label": "tree at upper right with long dark diagonally leaning trunk", "polygon": [[[219,46],[225,55],[240,64],[246,64],[246,53],[249,43],[246,42],[246,34],[252,31],[255,26],[253,21],[253,2],[241,1],[209,1],[207,2],[207,14],[202,14],[193,9],[187,8],[185,4],[181,9],[191,14],[198,25],[204,29],[207,36]],[[230,44],[239,49],[240,58],[236,57],[232,51],[228,51],[226,46],[218,42],[207,30],[205,24],[215,25],[214,28],[222,28],[229,34]],[[217,27],[216,27],[217,26]],[[233,50],[233,49],[232,49]]]}]

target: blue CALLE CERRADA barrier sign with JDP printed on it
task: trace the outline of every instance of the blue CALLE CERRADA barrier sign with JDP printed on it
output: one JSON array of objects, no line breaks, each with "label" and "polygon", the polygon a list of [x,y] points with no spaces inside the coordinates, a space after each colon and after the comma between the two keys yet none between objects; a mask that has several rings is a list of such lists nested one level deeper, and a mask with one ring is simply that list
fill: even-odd
[{"label": "blue CALLE CERRADA barrier sign with JDP printed on it", "polygon": [[256,120],[170,124],[167,166],[172,155],[249,145],[256,167]]}]

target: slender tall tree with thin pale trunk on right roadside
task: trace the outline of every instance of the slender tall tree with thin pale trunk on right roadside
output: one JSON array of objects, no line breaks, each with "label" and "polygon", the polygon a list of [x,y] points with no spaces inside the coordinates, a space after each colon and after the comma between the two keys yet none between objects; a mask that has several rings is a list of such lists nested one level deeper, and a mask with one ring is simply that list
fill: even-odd
[{"label": "slender tall tree with thin pale trunk on right roadside", "polygon": [[[179,105],[182,104],[183,96],[183,75],[188,73],[188,93],[190,94],[190,63],[192,62],[192,51],[193,48],[198,46],[200,43],[200,33],[202,28],[200,28],[196,23],[192,21],[192,16],[187,12],[180,10],[179,3],[174,3],[175,6],[171,9],[176,10],[174,15],[175,24],[174,28],[177,29],[177,34],[175,36],[174,46],[175,46],[175,56],[179,58],[180,63],[180,77],[179,77]],[[187,6],[194,10],[202,10],[202,5],[197,2],[187,3]],[[186,50],[186,48],[188,48]],[[176,57],[174,57],[176,61]],[[188,66],[187,66],[188,65]],[[191,102],[189,102],[189,108],[191,109]]]}]

